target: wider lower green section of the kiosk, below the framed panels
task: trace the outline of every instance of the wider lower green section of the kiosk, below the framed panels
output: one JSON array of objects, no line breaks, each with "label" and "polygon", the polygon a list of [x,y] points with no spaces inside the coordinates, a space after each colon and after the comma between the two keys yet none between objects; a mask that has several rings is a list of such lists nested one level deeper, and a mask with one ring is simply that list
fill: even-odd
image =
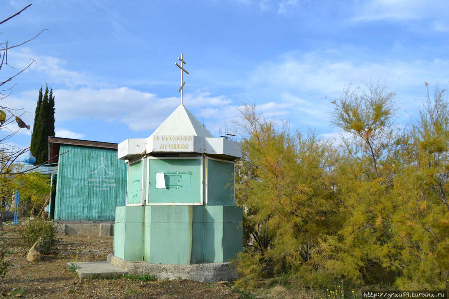
[{"label": "wider lower green section of the kiosk, below the framed panels", "polygon": [[117,207],[114,254],[155,264],[227,262],[242,250],[242,217],[236,206]]}]

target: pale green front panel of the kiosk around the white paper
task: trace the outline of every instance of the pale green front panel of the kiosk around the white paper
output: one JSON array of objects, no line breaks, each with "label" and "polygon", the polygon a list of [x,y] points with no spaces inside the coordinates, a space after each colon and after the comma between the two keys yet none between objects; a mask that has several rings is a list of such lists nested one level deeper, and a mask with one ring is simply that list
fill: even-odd
[{"label": "pale green front panel of the kiosk around the white paper", "polygon": [[[156,189],[156,173],[163,172],[165,189]],[[148,202],[200,203],[201,159],[149,159]]]}]

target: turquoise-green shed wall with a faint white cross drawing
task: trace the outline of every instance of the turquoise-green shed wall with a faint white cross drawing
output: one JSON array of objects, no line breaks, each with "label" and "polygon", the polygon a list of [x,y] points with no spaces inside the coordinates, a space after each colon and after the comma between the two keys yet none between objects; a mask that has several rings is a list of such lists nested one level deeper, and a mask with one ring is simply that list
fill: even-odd
[{"label": "turquoise-green shed wall with a faint white cross drawing", "polygon": [[114,220],[126,200],[126,164],[117,150],[61,145],[55,220]]}]

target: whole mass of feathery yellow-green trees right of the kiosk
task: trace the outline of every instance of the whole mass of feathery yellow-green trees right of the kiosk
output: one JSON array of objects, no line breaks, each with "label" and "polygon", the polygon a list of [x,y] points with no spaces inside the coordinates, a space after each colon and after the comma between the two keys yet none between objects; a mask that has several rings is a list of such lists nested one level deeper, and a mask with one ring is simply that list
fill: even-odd
[{"label": "whole mass of feathery yellow-green trees right of the kiosk", "polygon": [[333,123],[349,134],[338,146],[245,106],[238,285],[282,274],[310,287],[448,289],[445,92],[428,92],[420,117],[400,129],[395,92],[379,82],[348,86],[334,101]]}]

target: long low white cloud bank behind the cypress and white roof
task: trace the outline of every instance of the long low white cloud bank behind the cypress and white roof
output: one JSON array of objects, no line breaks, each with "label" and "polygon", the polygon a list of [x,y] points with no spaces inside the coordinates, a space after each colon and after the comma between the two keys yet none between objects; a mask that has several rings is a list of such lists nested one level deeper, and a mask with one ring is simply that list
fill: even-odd
[{"label": "long low white cloud bank behind the cypress and white roof", "polygon": [[[155,129],[180,104],[179,97],[159,98],[157,95],[141,92],[128,87],[55,89],[55,119],[65,122],[73,119],[92,118],[107,122],[120,122],[134,131]],[[24,91],[8,97],[11,107],[25,107],[22,119],[32,125],[34,118],[36,91]],[[224,95],[212,96],[210,92],[199,90],[184,95],[184,102],[190,109],[232,106],[232,100]],[[211,116],[203,114],[209,118]],[[217,113],[217,118],[223,114]],[[59,133],[59,135],[58,135]],[[81,138],[80,133],[60,129],[57,136]],[[78,135],[77,135],[78,134]]]}]

